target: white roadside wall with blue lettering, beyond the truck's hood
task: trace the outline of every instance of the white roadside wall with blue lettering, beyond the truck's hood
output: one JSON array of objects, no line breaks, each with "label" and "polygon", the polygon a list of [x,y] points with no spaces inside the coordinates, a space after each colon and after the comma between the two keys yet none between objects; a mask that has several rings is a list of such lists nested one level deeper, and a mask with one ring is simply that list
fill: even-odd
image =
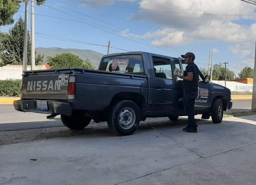
[{"label": "white roadside wall with blue lettering, beyond the truck's hood", "polygon": [[[212,83],[217,83],[221,86],[225,86],[225,81],[212,80]],[[230,91],[250,91],[253,92],[253,84],[239,83],[233,81],[226,81],[226,87]]]}]

